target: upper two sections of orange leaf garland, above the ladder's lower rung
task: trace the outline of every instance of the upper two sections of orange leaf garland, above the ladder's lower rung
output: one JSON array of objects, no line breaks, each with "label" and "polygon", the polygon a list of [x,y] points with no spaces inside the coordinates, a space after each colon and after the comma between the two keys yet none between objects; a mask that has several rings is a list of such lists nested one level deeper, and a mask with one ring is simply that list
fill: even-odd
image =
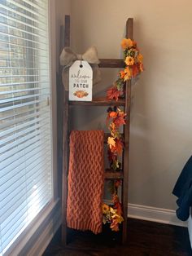
[{"label": "upper two sections of orange leaf garland, above the ladder's lower rung", "polygon": [[[120,70],[119,77],[107,90],[107,99],[119,100],[121,96],[124,96],[124,86],[125,82],[133,77],[136,77],[143,71],[143,56],[137,48],[137,42],[131,40],[130,38],[124,38],[121,42],[121,47],[124,50],[124,70]],[[111,135],[108,137],[107,143],[108,149],[108,159],[110,161],[111,170],[118,170],[120,168],[120,161],[118,156],[123,151],[124,143],[120,135],[120,126],[125,125],[126,113],[124,113],[120,108],[108,108],[107,109],[107,124]]]}]

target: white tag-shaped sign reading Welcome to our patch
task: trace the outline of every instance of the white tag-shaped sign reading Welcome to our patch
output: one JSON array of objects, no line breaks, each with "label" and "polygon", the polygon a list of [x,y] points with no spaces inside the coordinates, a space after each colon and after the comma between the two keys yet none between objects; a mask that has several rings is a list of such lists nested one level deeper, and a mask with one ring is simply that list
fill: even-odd
[{"label": "white tag-shaped sign reading Welcome to our patch", "polygon": [[85,60],[69,68],[69,100],[92,101],[93,70]]}]

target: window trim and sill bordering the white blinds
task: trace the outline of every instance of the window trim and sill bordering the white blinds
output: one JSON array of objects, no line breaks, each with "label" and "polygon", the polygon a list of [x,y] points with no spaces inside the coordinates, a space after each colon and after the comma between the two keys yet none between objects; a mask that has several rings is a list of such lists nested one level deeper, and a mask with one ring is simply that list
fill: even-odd
[{"label": "window trim and sill bordering the white blinds", "polygon": [[[58,165],[57,165],[57,101],[56,101],[56,26],[55,26],[55,1],[48,1],[48,28],[49,34],[49,51],[50,51],[50,113],[51,113],[51,145],[52,145],[52,181],[53,181],[53,198],[46,205],[37,216],[29,223],[24,232],[13,242],[9,249],[3,256],[28,254],[33,255],[34,246],[37,246],[39,236],[46,230],[47,224],[54,220],[55,231],[61,224],[61,207],[59,200],[59,186],[58,186]],[[53,231],[53,232],[55,232]],[[54,233],[52,234],[52,236]],[[46,241],[47,245],[52,236]],[[41,247],[41,252],[46,249],[46,244]],[[34,255],[37,255],[34,253]]]}]

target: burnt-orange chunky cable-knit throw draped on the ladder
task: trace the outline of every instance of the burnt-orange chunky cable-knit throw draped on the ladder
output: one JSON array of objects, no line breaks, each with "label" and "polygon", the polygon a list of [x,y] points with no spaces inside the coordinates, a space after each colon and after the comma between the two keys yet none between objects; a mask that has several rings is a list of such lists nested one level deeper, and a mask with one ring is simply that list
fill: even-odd
[{"label": "burnt-orange chunky cable-knit throw draped on the ladder", "polygon": [[73,130],[68,170],[68,227],[102,232],[103,130]]}]

